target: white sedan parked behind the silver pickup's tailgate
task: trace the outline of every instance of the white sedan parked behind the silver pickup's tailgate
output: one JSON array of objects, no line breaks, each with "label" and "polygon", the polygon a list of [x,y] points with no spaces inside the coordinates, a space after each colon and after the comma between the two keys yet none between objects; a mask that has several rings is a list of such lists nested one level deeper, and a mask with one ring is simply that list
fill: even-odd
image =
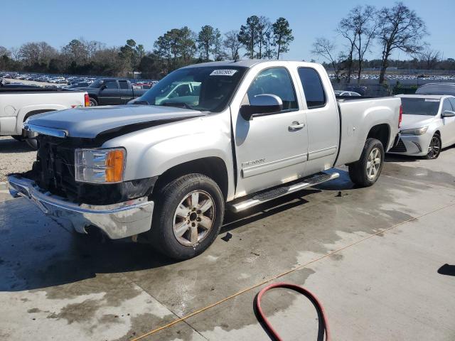
[{"label": "white sedan parked behind the silver pickup's tailgate", "polygon": [[449,95],[400,94],[402,127],[400,140],[389,153],[433,159],[441,148],[455,144],[455,97]]}]

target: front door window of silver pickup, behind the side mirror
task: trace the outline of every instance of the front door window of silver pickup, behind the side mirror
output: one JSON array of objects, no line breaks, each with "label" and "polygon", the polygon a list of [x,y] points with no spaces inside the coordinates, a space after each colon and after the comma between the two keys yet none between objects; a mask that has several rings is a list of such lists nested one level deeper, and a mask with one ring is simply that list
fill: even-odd
[{"label": "front door window of silver pickup, behind the side mirror", "polygon": [[283,110],[297,109],[296,93],[291,76],[284,67],[272,67],[257,75],[248,89],[248,98],[257,94],[275,94],[283,101]]}]

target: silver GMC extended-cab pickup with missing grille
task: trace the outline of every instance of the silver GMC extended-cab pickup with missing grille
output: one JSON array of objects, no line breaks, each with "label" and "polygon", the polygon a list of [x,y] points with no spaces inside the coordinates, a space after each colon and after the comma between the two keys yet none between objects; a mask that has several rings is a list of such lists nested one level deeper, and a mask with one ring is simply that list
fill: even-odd
[{"label": "silver GMC extended-cab pickup with missing grille", "polygon": [[[178,95],[176,86],[191,84]],[[174,94],[177,92],[174,92]],[[338,177],[378,180],[400,98],[336,99],[319,64],[243,60],[183,67],[117,107],[38,114],[33,169],[9,176],[77,232],[146,240],[174,259],[207,249],[225,209],[248,210]]]}]

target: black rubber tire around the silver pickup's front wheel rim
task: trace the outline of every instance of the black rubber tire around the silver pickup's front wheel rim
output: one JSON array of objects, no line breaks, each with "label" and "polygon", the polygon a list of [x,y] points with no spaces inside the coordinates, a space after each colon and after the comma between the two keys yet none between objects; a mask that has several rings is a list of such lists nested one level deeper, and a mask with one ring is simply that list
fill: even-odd
[{"label": "black rubber tire around the silver pickup's front wheel rim", "polygon": [[[207,229],[203,239],[196,242],[196,244],[184,245],[179,242],[173,227],[177,219],[177,207],[181,205],[182,200],[185,200],[185,198],[194,191],[207,193],[210,196],[210,200],[213,202],[213,206],[210,208],[212,224],[211,228]],[[220,232],[221,225],[223,224],[225,201],[220,188],[211,178],[202,174],[183,175],[165,185],[161,190],[158,190],[155,199],[156,206],[154,208],[154,217],[148,239],[157,251],[173,259],[190,259],[201,254],[205,249],[208,249],[215,241]],[[187,224],[192,224],[189,217],[190,216],[188,215]],[[200,221],[200,218],[197,219]],[[186,225],[183,229],[185,228]],[[199,228],[200,227],[196,227],[197,232],[199,231]],[[191,234],[190,225],[188,225],[186,233]],[[200,232],[200,234],[203,233],[204,232]],[[186,234],[183,234],[183,236],[184,235]],[[197,234],[197,236],[199,237],[199,234]],[[183,237],[180,238],[182,239]]]}]

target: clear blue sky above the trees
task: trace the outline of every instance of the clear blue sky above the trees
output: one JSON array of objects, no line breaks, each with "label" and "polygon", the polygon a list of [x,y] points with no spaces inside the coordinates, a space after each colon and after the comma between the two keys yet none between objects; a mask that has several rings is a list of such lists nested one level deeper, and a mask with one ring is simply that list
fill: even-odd
[{"label": "clear blue sky above the trees", "polygon": [[[429,36],[424,40],[444,58],[455,58],[454,0],[404,0],[427,23]],[[336,36],[337,23],[358,4],[392,6],[394,0],[0,0],[0,45],[19,47],[31,41],[46,41],[61,48],[73,38],[97,40],[108,46],[124,45],[133,38],[152,50],[156,38],[171,28],[188,26],[198,32],[203,25],[219,28],[222,33],[239,29],[248,16],[267,16],[275,21],[287,18],[294,34],[287,60],[323,60],[311,55],[316,37],[333,38],[339,49],[345,43]],[[379,58],[373,46],[367,59]],[[392,57],[409,58],[405,53]]]}]

